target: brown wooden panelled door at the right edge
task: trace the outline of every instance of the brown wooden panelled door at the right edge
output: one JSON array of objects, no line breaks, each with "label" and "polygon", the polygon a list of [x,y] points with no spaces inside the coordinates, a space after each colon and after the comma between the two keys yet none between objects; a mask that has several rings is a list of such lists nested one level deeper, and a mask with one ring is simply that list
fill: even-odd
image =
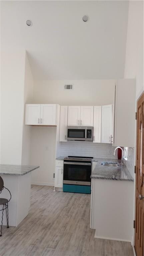
[{"label": "brown wooden panelled door at the right edge", "polygon": [[144,93],[137,101],[135,251],[144,256]]}]

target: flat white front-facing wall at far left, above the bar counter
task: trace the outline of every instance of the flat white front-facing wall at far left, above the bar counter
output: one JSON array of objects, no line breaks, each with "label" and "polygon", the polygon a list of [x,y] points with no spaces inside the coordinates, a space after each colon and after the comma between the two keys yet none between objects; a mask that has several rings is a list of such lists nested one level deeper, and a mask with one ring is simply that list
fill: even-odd
[{"label": "flat white front-facing wall at far left, above the bar counter", "polygon": [[1,51],[1,163],[21,164],[25,50]]}]

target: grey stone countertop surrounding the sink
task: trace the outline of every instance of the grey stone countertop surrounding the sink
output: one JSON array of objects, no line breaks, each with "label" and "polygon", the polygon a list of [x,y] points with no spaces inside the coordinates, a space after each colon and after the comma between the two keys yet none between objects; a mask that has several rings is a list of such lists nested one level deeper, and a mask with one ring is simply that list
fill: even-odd
[{"label": "grey stone countertop surrounding the sink", "polygon": [[102,162],[118,162],[116,159],[93,159],[97,162],[95,169],[91,174],[91,179],[117,180],[117,181],[134,181],[129,170],[123,164],[122,167],[103,166]]}]

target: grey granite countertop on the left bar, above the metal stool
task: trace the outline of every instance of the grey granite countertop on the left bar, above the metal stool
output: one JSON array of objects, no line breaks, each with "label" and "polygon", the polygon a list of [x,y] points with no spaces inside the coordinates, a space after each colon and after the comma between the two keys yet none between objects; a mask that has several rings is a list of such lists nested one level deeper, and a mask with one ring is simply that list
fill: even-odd
[{"label": "grey granite countertop on the left bar, above the metal stool", "polygon": [[0,175],[25,175],[38,168],[39,166],[31,165],[0,165]]}]

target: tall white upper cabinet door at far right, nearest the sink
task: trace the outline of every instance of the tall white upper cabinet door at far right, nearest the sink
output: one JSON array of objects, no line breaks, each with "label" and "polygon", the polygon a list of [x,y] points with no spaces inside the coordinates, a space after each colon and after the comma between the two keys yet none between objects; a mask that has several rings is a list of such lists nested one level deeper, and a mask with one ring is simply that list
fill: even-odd
[{"label": "tall white upper cabinet door at far right, nearest the sink", "polygon": [[112,105],[102,106],[101,143],[112,143]]}]

